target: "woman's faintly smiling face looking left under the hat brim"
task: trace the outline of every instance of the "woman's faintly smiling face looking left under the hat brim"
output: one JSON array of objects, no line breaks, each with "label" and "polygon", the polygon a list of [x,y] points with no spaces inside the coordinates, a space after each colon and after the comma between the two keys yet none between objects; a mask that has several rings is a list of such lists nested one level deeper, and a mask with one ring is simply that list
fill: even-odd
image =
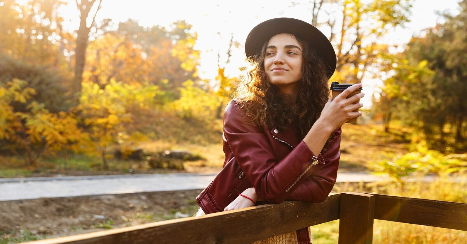
[{"label": "woman's faintly smiling face looking left under the hat brim", "polygon": [[264,70],[269,82],[282,92],[295,95],[302,78],[303,47],[291,34],[276,34],[269,39]]}]

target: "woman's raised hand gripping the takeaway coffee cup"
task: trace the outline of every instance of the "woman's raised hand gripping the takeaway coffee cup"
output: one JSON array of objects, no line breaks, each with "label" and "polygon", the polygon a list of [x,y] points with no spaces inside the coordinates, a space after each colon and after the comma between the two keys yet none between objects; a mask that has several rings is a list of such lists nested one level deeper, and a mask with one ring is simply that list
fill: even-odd
[{"label": "woman's raised hand gripping the takeaway coffee cup", "polygon": [[[335,98],[329,98],[329,101],[326,102],[323,111],[321,111],[319,119],[328,125],[333,126],[332,129],[334,130],[350,119],[361,116],[361,111],[354,111],[363,107],[363,104],[357,101],[365,94],[357,93],[347,98],[347,96],[352,94],[358,88],[361,88],[361,84],[354,84],[344,90],[341,94],[337,95]],[[354,102],[357,103],[354,104]]]}]

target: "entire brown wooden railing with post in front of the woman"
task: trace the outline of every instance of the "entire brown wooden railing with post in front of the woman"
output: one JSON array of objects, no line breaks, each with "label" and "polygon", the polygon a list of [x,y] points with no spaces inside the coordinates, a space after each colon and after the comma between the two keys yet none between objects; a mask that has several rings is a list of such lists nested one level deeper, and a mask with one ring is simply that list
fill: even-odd
[{"label": "entire brown wooden railing with post in front of the woman", "polygon": [[251,243],[340,219],[339,243],[372,243],[381,219],[467,231],[467,203],[345,192],[322,203],[284,202],[29,244]]}]

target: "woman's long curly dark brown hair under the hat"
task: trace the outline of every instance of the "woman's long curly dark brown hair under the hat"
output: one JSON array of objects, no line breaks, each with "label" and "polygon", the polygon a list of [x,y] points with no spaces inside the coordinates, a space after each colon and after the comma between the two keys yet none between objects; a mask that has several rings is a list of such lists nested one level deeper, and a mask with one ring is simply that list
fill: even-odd
[{"label": "woman's long curly dark brown hair under the hat", "polygon": [[261,52],[249,59],[253,69],[239,83],[235,100],[241,102],[246,115],[258,125],[266,123],[269,128],[277,125],[285,129],[290,120],[297,122],[300,139],[303,139],[318,120],[329,98],[327,67],[307,41],[291,35],[304,47],[302,79],[297,81],[300,86],[297,103],[291,106],[291,96],[280,94],[279,89],[268,81],[264,70],[267,42],[263,44]]}]

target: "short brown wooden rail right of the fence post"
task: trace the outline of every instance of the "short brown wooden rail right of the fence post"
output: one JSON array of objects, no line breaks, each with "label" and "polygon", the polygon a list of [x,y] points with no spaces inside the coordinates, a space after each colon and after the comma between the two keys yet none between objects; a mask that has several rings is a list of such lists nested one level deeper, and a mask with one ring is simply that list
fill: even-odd
[{"label": "short brown wooden rail right of the fence post", "polygon": [[375,218],[467,231],[467,203],[375,195]]}]

